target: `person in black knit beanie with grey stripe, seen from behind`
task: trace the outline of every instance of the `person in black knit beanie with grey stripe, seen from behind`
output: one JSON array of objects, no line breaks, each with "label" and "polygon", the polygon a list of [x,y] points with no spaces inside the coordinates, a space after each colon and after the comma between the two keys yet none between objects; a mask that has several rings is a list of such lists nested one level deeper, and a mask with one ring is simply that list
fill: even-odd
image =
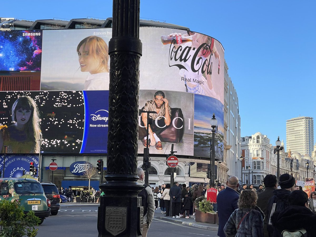
[{"label": "person in black knit beanie with grey stripe, seen from behind", "polygon": [[288,173],[282,174],[279,178],[279,185],[281,189],[274,190],[274,196],[268,202],[268,218],[266,221],[270,237],[281,236],[280,230],[272,224],[272,216],[274,212],[280,213],[289,207],[288,196],[294,190],[295,179]]}]

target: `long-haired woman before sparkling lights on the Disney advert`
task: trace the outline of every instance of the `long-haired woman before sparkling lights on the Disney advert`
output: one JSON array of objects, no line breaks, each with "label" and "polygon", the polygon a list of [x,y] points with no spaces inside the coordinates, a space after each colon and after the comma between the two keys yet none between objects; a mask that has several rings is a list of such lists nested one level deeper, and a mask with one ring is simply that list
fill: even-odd
[{"label": "long-haired woman before sparkling lights on the Disney advert", "polygon": [[12,105],[13,125],[0,126],[0,147],[4,153],[39,153],[42,138],[40,118],[35,101],[21,96]]}]

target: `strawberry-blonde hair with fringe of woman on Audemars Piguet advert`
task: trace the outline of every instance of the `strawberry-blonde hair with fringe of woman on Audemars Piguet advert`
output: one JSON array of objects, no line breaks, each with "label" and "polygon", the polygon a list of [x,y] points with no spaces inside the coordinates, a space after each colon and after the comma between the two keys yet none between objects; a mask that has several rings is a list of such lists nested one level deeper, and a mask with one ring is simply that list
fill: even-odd
[{"label": "strawberry-blonde hair with fringe of woman on Audemars Piguet advert", "polygon": [[77,52],[79,52],[81,46],[83,46],[83,49],[86,49],[87,46],[88,54],[92,55],[94,58],[98,57],[102,60],[102,63],[100,64],[98,70],[106,70],[106,72],[109,72],[109,48],[102,38],[93,35],[84,38],[78,44]]}]

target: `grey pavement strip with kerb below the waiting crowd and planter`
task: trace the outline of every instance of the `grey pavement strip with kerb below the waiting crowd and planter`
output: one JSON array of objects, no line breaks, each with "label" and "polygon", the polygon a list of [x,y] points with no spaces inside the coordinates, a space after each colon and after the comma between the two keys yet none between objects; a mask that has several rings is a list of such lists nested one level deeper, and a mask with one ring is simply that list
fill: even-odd
[{"label": "grey pavement strip with kerb below the waiting crowd and planter", "polygon": [[155,218],[158,218],[167,222],[175,222],[175,223],[179,223],[179,224],[183,224],[187,226],[192,226],[199,229],[218,231],[218,224],[196,222],[194,220],[195,216],[190,215],[190,218],[185,218],[185,217],[172,218],[172,216],[165,216],[165,215],[166,214],[161,214],[161,210],[159,209],[159,207],[157,210],[155,210],[155,216],[154,216]]}]

